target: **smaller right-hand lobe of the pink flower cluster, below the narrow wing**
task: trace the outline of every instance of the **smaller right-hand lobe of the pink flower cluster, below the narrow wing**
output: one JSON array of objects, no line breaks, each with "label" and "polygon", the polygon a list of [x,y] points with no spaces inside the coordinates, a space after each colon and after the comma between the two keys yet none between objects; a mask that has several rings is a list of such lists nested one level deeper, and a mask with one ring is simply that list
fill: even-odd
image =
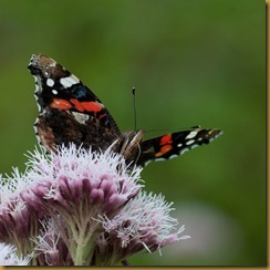
[{"label": "smaller right-hand lobe of the pink flower cluster, below the narrow wing", "polygon": [[100,258],[121,261],[141,250],[153,252],[179,240],[184,228],[172,233],[178,221],[168,215],[170,205],[162,195],[142,191],[113,218],[100,217],[104,228],[97,241]]}]

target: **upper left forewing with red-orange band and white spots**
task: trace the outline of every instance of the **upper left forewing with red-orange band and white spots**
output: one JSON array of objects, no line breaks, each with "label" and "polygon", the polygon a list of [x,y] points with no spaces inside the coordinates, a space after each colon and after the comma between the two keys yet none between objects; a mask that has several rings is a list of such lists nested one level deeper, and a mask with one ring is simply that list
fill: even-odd
[{"label": "upper left forewing with red-orange band and white spots", "polygon": [[77,112],[97,118],[114,132],[120,129],[95,94],[75,75],[45,55],[33,55],[29,70],[35,77],[41,112],[45,107]]}]

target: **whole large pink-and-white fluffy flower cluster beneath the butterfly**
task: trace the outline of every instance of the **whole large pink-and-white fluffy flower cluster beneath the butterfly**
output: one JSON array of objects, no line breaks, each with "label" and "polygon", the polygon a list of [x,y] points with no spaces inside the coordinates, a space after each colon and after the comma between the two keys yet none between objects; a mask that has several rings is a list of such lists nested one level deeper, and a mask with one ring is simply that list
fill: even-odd
[{"label": "whole large pink-and-white fluffy flower cluster beneath the butterfly", "polygon": [[180,239],[172,204],[142,191],[141,169],[129,172],[110,148],[71,145],[29,158],[25,174],[0,186],[0,241],[23,256],[34,250],[37,264],[115,264]]}]

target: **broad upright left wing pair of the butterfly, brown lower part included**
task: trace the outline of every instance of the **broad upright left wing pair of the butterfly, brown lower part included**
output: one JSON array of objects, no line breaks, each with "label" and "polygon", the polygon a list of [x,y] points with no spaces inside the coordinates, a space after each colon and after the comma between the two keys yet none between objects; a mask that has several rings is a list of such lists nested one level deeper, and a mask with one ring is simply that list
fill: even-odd
[{"label": "broad upright left wing pair of the butterfly, brown lower part included", "polygon": [[37,136],[49,152],[70,143],[104,150],[122,136],[102,102],[62,65],[40,54],[28,69],[35,79],[40,110]]}]

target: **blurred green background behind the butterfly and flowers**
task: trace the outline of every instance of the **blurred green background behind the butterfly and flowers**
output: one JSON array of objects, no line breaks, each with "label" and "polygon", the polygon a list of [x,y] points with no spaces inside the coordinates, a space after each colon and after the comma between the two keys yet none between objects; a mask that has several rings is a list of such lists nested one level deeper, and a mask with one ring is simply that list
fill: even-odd
[{"label": "blurred green background behind the butterfly and flowers", "polygon": [[[103,101],[121,129],[201,125],[224,135],[143,172],[189,240],[133,266],[266,264],[266,27],[258,0],[1,0],[0,173],[37,144],[34,81],[44,53]],[[150,137],[156,134],[147,133]]]}]

